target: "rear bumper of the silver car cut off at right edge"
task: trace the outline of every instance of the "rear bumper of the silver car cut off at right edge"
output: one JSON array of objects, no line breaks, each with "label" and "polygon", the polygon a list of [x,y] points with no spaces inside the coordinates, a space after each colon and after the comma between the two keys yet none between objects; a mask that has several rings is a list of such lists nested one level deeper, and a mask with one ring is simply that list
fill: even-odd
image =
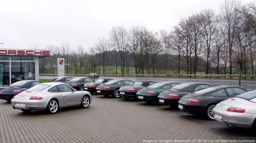
[{"label": "rear bumper of the silver car cut off at right edge", "polygon": [[[234,113],[213,108],[214,120],[224,125],[231,125],[238,128],[250,129],[256,118],[256,114],[250,113]],[[215,116],[220,115],[222,119],[217,119]]]}]

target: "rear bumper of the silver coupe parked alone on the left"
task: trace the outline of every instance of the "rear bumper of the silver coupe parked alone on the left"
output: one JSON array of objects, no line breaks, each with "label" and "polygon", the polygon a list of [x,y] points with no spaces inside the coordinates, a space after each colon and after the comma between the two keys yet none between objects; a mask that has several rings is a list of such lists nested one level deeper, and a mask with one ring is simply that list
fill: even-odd
[{"label": "rear bumper of the silver coupe parked alone on the left", "polygon": [[[28,110],[45,110],[50,100],[22,100],[12,99],[11,106],[13,109],[28,109]],[[16,106],[16,103],[25,103],[25,107]]]}]

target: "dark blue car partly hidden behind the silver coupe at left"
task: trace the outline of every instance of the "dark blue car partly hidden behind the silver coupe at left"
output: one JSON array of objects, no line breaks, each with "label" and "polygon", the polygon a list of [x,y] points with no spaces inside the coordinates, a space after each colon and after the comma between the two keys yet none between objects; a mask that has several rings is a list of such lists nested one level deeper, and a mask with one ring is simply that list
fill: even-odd
[{"label": "dark blue car partly hidden behind the silver coupe at left", "polygon": [[9,87],[0,91],[0,99],[6,100],[11,103],[13,96],[19,94],[20,92],[33,87],[41,82],[36,80],[22,80],[11,84]]}]

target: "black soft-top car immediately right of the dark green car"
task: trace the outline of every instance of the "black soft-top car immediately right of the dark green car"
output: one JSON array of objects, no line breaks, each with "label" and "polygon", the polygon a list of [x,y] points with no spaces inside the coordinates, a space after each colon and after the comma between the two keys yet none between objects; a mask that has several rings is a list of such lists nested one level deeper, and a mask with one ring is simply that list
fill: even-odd
[{"label": "black soft-top car immediately right of the dark green car", "polygon": [[177,107],[182,96],[208,87],[211,85],[201,82],[183,83],[160,93],[158,102],[170,107]]}]

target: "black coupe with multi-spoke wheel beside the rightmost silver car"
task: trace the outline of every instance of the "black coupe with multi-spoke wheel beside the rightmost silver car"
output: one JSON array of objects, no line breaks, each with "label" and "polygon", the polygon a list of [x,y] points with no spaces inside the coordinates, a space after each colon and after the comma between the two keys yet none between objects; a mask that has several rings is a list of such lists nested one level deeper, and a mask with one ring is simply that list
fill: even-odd
[{"label": "black coupe with multi-spoke wheel beside the rightmost silver car", "polygon": [[207,119],[214,119],[213,108],[216,104],[246,92],[240,86],[217,86],[192,92],[179,100],[179,109],[188,114],[203,114]]}]

